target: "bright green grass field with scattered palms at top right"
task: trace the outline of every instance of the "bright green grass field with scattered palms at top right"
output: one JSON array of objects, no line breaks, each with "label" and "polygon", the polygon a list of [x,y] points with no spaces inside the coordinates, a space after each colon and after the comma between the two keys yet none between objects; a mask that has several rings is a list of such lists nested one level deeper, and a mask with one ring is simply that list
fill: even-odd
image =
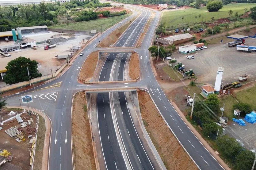
[{"label": "bright green grass field with scattered palms at top right", "polygon": [[[247,8],[249,11],[250,8],[256,6],[255,3],[237,3],[237,4],[228,4],[223,5],[223,8],[220,9],[218,12],[208,12],[206,7],[203,7],[201,9],[196,8],[189,8],[184,10],[171,10],[170,12],[163,13],[163,17],[161,20],[161,23],[166,23],[166,26],[176,26],[181,23],[199,23],[205,20],[211,21],[212,17],[215,17],[215,19],[220,18],[227,18],[228,17],[228,10],[232,9],[233,14],[235,15],[236,12],[239,14],[244,14],[244,9]],[[201,14],[202,17],[199,18],[198,15]],[[195,16],[197,16],[197,20],[195,19]],[[182,20],[181,17],[184,17]]]}]

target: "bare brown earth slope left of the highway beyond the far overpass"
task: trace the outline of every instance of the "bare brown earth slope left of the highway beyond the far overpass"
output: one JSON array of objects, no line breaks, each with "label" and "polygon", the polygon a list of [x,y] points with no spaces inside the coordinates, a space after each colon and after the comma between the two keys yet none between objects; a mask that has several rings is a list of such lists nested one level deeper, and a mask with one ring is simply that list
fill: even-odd
[{"label": "bare brown earth slope left of the highway beyond the far overpass", "polygon": [[136,19],[136,17],[132,18],[130,22],[123,24],[118,27],[115,31],[113,31],[109,36],[104,38],[98,45],[98,47],[110,47],[115,44],[115,42],[121,37],[124,31],[132,24],[132,22]]}]

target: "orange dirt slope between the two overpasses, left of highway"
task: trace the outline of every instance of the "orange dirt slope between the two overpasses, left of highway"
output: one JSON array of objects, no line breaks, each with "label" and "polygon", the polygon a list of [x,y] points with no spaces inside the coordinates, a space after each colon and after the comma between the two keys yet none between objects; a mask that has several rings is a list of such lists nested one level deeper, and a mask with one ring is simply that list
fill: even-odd
[{"label": "orange dirt slope between the two overpasses, left of highway", "polygon": [[99,59],[99,52],[94,51],[89,54],[82,65],[78,79],[82,82],[90,81],[93,78],[94,71]]}]

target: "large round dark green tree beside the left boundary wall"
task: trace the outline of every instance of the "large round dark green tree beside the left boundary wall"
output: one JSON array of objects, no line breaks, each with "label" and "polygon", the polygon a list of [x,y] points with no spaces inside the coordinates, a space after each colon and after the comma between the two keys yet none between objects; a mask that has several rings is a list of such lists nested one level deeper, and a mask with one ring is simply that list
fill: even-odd
[{"label": "large round dark green tree beside the left boundary wall", "polygon": [[27,68],[31,78],[42,76],[41,73],[38,73],[37,64],[35,60],[31,61],[30,58],[26,57],[18,57],[15,60],[11,60],[5,67],[7,72],[4,82],[11,85],[22,81],[29,81]]}]

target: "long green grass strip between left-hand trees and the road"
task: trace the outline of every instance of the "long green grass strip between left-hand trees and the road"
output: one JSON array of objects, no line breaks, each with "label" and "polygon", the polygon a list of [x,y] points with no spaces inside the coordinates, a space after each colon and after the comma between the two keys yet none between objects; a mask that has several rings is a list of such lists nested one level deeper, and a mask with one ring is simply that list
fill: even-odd
[{"label": "long green grass strip between left-hand trees and the road", "polygon": [[75,22],[75,23],[70,23],[70,24],[53,25],[49,28],[64,29],[64,30],[76,30],[76,31],[97,30],[97,32],[98,32],[98,31],[101,31],[101,27],[102,27],[102,31],[105,31],[108,28],[110,28],[113,25],[120,22],[121,20],[124,20],[125,18],[127,18],[130,15],[131,15],[131,13],[121,15],[121,16],[104,18],[104,19]]}]

